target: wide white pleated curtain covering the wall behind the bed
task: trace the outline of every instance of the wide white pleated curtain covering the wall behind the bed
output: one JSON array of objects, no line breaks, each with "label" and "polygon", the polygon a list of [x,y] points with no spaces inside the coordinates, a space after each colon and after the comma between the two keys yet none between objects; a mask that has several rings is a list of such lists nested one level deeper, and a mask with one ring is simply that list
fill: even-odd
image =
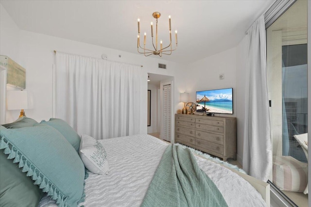
[{"label": "wide white pleated curtain covering the wall behind the bed", "polygon": [[55,115],[95,139],[139,134],[140,81],[138,65],[57,52]]}]

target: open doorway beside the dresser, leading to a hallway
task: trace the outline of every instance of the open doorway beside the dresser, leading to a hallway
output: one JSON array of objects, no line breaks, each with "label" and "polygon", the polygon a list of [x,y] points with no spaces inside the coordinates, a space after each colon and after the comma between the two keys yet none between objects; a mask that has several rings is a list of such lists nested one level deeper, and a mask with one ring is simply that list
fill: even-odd
[{"label": "open doorway beside the dresser, leading to a hallway", "polygon": [[[172,124],[174,114],[173,77],[153,73],[148,73],[148,76],[150,80],[148,81],[148,90],[151,90],[151,121],[150,126],[147,127],[147,133],[171,142],[174,130]],[[169,102],[167,98],[170,98]]]}]

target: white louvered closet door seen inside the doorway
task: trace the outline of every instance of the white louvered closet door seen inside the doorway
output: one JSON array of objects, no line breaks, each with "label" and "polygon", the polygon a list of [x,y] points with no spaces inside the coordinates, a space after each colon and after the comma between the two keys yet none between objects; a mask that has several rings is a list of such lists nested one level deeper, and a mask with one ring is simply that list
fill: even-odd
[{"label": "white louvered closet door seen inside the doorway", "polygon": [[163,85],[163,140],[171,142],[171,84]]}]

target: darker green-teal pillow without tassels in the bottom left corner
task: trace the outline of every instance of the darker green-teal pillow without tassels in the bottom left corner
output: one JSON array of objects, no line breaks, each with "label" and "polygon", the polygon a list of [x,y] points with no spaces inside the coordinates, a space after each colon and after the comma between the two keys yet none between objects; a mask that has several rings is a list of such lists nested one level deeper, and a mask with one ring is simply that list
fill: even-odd
[{"label": "darker green-teal pillow without tassels in the bottom left corner", "polygon": [[37,207],[43,192],[0,150],[0,206]]}]

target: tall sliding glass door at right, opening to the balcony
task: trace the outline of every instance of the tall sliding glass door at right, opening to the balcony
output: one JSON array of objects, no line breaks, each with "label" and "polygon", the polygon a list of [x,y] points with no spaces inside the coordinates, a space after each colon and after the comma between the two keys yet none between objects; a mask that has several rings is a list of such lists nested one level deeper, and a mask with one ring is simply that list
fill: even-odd
[{"label": "tall sliding glass door at right, opening to the balcony", "polygon": [[308,132],[307,44],[307,1],[297,0],[267,28],[267,66],[270,180],[298,206],[308,206],[308,143],[298,142]]}]

